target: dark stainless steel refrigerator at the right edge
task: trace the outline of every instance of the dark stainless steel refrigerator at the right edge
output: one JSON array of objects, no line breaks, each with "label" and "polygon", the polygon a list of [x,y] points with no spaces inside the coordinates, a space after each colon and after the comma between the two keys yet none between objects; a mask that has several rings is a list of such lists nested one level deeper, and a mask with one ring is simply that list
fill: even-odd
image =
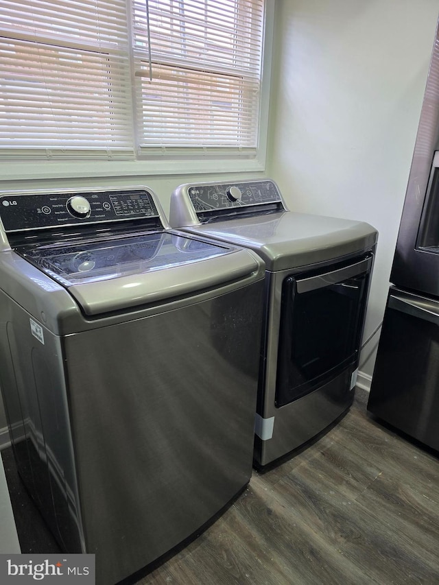
[{"label": "dark stainless steel refrigerator at the right edge", "polygon": [[390,274],[368,410],[439,450],[439,32]]}]

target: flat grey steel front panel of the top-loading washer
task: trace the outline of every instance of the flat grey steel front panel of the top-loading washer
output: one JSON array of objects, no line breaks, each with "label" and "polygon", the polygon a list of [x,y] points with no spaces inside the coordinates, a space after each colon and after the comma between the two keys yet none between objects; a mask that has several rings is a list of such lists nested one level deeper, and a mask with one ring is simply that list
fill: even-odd
[{"label": "flat grey steel front panel of the top-loading washer", "polygon": [[156,559],[249,481],[260,293],[64,340],[84,536],[108,575]]}]

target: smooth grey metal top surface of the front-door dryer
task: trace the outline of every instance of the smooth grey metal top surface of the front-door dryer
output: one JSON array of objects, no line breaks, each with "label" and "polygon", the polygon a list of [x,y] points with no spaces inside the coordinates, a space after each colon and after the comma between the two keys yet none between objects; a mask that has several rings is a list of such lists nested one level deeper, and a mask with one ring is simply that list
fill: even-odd
[{"label": "smooth grey metal top surface of the front-door dryer", "polygon": [[240,217],[185,230],[251,248],[271,271],[330,261],[370,249],[377,242],[377,230],[365,222],[293,211]]}]

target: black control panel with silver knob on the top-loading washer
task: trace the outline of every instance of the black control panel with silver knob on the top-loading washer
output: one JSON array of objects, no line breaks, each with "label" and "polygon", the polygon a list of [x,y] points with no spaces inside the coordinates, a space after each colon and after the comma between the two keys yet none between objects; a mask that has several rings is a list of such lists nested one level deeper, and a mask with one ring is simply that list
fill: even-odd
[{"label": "black control panel with silver knob on the top-loading washer", "polygon": [[146,189],[2,195],[0,217],[6,232],[54,228],[120,219],[159,217]]}]

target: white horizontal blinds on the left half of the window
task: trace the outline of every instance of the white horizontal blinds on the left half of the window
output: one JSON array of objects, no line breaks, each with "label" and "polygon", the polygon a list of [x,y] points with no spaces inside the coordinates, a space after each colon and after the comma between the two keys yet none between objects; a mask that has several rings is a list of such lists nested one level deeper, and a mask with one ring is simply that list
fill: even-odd
[{"label": "white horizontal blinds on the left half of the window", "polygon": [[3,153],[132,150],[128,47],[125,0],[1,0]]}]

